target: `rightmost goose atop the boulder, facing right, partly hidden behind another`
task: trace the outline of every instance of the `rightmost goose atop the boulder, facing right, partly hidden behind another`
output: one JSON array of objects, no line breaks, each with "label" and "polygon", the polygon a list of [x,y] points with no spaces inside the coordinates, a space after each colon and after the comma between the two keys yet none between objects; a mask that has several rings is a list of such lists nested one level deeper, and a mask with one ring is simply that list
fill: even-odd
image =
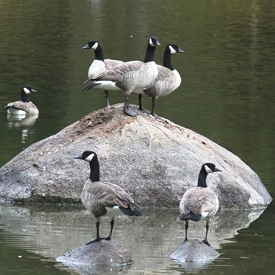
[{"label": "rightmost goose atop the boulder, facing right, partly hidden behind another", "polygon": [[[183,50],[179,49],[177,45],[167,45],[164,50],[163,66],[157,65],[157,78],[153,80],[149,87],[143,90],[143,93],[152,98],[152,111],[151,115],[155,115],[155,101],[159,96],[166,96],[172,91],[175,91],[181,84],[181,76],[176,69],[171,65],[171,55],[177,53],[184,53]],[[140,110],[142,108],[142,94],[139,94]]]}]

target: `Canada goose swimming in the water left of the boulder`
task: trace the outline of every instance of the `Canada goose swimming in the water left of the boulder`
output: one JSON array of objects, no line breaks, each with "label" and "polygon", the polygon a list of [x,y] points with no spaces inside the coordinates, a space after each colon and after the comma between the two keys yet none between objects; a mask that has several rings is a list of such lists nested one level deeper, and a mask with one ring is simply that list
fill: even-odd
[{"label": "Canada goose swimming in the water left of the boulder", "polygon": [[8,115],[38,115],[39,109],[28,98],[30,93],[37,93],[37,91],[30,86],[24,86],[21,89],[22,100],[10,102],[4,107],[8,109]]}]

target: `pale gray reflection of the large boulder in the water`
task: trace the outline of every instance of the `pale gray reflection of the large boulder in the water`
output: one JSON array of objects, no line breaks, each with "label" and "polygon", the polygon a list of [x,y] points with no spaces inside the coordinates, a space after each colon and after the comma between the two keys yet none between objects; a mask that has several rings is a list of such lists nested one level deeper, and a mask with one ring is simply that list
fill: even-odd
[{"label": "pale gray reflection of the large boulder in the water", "polygon": [[[152,253],[156,252],[158,256],[163,252],[162,256],[168,258],[184,241],[184,225],[182,221],[177,220],[178,210],[146,211],[144,209],[142,212],[144,216],[141,219],[118,217],[115,225],[115,239],[126,248],[133,247],[130,249],[132,254],[140,255],[140,252],[150,250]],[[247,228],[252,221],[260,217],[262,212],[263,210],[217,212],[209,232],[212,248],[219,249],[221,243],[230,242],[228,239],[234,241],[233,238],[237,231]],[[107,223],[108,220],[102,219],[102,222]],[[83,210],[83,206],[21,207],[0,204],[0,224],[4,225],[1,227],[7,233],[11,232],[13,236],[20,236],[21,242],[28,243],[29,251],[32,250],[34,253],[50,258],[56,258],[72,248],[78,248],[79,245],[87,243],[87,238],[91,236],[91,230],[94,228],[94,220],[89,212]],[[190,223],[190,240],[201,241],[204,237],[204,230],[205,223]],[[125,232],[135,232],[135,234],[125,234]],[[143,237],[140,238],[140,236]],[[33,249],[30,248],[30,244]],[[36,250],[37,247],[43,250]]]}]

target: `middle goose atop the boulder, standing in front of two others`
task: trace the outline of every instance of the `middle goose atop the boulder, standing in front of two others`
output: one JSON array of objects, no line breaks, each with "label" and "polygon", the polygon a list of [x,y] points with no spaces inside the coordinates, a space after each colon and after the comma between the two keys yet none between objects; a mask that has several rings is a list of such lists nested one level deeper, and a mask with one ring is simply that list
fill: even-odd
[{"label": "middle goose atop the boulder, standing in front of two others", "polygon": [[91,80],[96,80],[93,84],[88,85],[85,89],[91,89],[98,85],[99,87],[118,87],[124,91],[124,113],[135,116],[137,112],[129,107],[129,96],[131,92],[142,93],[143,89],[150,85],[157,77],[157,65],[154,61],[155,47],[160,46],[157,37],[152,36],[148,41],[144,62],[129,61],[117,65]]}]

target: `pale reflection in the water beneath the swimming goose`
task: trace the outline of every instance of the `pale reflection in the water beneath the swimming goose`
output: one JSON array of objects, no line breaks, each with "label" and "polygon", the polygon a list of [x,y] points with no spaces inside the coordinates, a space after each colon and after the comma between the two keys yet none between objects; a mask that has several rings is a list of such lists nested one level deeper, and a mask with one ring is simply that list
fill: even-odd
[{"label": "pale reflection in the water beneath the swimming goose", "polygon": [[35,130],[30,128],[38,117],[39,115],[8,115],[8,127],[21,129],[21,142],[25,143],[30,135],[34,135]]}]

